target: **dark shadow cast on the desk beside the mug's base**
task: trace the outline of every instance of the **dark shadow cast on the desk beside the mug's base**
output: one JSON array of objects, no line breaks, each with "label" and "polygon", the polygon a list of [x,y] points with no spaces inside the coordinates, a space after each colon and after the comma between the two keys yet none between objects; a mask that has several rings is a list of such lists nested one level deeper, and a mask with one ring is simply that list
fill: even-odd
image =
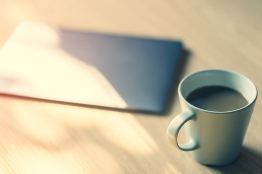
[{"label": "dark shadow cast on the desk beside the mug's base", "polygon": [[222,174],[262,174],[262,151],[244,146],[237,160],[227,166],[210,167]]}]

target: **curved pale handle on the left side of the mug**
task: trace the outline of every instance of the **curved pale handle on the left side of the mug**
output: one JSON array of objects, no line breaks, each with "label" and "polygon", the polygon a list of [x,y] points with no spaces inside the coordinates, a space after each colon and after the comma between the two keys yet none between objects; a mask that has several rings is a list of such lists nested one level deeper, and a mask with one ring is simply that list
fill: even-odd
[{"label": "curved pale handle on the left side of the mug", "polygon": [[195,112],[187,109],[177,115],[169,124],[167,128],[167,139],[168,141],[182,151],[193,151],[199,148],[198,143],[193,138],[190,138],[186,144],[179,145],[177,142],[178,133],[181,127],[189,120],[196,116]]}]

